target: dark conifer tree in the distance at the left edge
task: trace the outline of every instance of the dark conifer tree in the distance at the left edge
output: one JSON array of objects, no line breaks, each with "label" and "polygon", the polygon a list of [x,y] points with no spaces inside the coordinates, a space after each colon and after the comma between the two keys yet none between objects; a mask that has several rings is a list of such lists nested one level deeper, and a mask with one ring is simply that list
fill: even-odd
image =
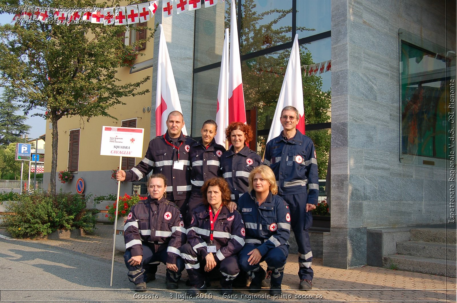
[{"label": "dark conifer tree in the distance at the left edge", "polygon": [[24,124],[26,116],[16,114],[21,108],[16,102],[16,98],[8,90],[0,97],[0,148],[19,142],[21,136],[28,134],[31,128]]}]

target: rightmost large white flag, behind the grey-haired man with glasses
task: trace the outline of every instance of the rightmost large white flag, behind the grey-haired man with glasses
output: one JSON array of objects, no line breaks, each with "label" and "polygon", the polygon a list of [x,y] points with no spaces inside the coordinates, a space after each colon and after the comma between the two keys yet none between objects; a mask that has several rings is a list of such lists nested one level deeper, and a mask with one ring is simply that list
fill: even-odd
[{"label": "rightmost large white flag, behind the grey-haired man with glasses", "polygon": [[305,134],[305,113],[303,107],[303,82],[302,70],[300,64],[300,51],[298,50],[298,35],[292,45],[289,62],[287,62],[286,74],[282,82],[281,92],[279,93],[278,103],[276,105],[275,115],[271,123],[270,133],[266,142],[279,136],[282,132],[281,112],[282,108],[286,106],[293,106],[297,108],[299,120],[297,129]]}]

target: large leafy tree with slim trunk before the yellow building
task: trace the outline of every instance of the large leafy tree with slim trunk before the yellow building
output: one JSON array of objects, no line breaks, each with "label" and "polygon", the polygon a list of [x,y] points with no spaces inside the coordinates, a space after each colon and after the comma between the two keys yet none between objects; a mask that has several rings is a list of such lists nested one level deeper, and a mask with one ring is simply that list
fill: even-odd
[{"label": "large leafy tree with slim trunk before the yellow building", "polygon": [[[0,5],[38,7],[113,7],[117,2],[95,0],[1,0]],[[108,109],[124,104],[126,96],[142,95],[139,87],[149,80],[122,83],[117,69],[129,66],[126,58],[137,55],[136,47],[153,37],[153,29],[145,40],[125,46],[119,37],[126,26],[104,26],[83,23],[65,25],[30,24],[0,26],[0,82],[15,93],[27,113],[42,108],[52,123],[51,194],[56,193],[58,121],[80,116],[89,121],[96,116],[113,117]]]}]

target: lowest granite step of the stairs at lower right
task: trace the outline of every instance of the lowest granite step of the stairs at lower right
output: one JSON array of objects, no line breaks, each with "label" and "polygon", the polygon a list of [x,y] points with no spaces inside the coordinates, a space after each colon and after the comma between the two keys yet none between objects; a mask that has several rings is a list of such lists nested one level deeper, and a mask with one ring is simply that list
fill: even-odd
[{"label": "lowest granite step of the stairs at lower right", "polygon": [[438,276],[457,277],[456,261],[406,255],[383,257],[383,267],[408,272],[422,272]]}]

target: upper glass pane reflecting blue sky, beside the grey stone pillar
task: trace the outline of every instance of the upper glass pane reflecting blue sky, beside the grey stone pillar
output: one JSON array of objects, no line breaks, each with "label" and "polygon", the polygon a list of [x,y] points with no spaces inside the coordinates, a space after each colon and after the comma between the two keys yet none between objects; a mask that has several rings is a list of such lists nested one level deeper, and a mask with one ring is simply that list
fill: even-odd
[{"label": "upper glass pane reflecting blue sky, beside the grey stone pillar", "polygon": [[[297,1],[297,33],[300,38],[330,31],[330,0]],[[312,31],[310,31],[312,30]]]}]

